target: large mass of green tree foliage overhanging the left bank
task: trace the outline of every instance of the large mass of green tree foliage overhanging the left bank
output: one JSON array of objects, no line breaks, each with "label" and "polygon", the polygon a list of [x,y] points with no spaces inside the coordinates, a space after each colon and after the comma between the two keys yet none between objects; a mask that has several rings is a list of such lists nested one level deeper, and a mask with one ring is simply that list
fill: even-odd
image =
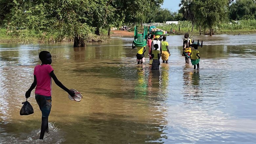
[{"label": "large mass of green tree foliage overhanging the left bank", "polygon": [[[8,35],[41,41],[63,41],[74,36],[88,39],[106,33],[104,29],[118,27],[123,22],[145,22],[153,18],[163,0],[1,0],[0,25]],[[3,6],[3,8],[2,8]],[[135,9],[136,8],[136,9]],[[154,10],[153,10],[154,11]],[[26,34],[25,34],[26,33]],[[96,37],[94,35],[94,37]]]}]

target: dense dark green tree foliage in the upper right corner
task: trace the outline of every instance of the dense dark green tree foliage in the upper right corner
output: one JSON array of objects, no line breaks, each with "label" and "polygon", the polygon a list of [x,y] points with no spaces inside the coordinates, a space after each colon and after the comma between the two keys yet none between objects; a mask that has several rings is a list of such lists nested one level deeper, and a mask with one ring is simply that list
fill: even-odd
[{"label": "dense dark green tree foliage in the upper right corner", "polygon": [[253,0],[238,0],[229,7],[232,20],[256,19],[256,4]]}]

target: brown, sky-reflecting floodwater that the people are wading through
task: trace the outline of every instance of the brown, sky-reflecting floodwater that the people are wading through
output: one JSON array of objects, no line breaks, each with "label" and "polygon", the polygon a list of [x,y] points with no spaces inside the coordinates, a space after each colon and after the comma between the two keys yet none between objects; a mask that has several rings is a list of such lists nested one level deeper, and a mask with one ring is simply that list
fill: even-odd
[{"label": "brown, sky-reflecting floodwater that the people are wading through", "polygon": [[[185,64],[182,36],[168,36],[169,64],[151,71],[136,64],[132,38],[73,48],[0,44],[0,143],[195,143],[256,142],[256,34],[197,36],[200,71]],[[20,116],[25,92],[51,51],[52,67],[81,102],[53,84],[49,134],[39,140],[41,112]]]}]

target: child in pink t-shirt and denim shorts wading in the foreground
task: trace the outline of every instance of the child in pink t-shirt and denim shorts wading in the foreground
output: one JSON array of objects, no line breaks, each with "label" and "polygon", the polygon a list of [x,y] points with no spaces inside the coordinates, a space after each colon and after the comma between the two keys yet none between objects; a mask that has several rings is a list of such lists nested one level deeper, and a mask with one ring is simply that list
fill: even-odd
[{"label": "child in pink t-shirt and denim shorts wading in the foreground", "polygon": [[35,88],[35,99],[42,112],[42,124],[39,139],[44,138],[45,131],[48,133],[48,117],[52,108],[52,78],[54,82],[64,91],[71,96],[75,93],[67,89],[56,77],[53,72],[53,68],[50,65],[52,63],[52,55],[48,51],[41,51],[39,53],[39,59],[42,61],[41,65],[37,65],[34,68],[34,82],[29,90],[26,92],[26,98],[30,97],[31,91]]}]

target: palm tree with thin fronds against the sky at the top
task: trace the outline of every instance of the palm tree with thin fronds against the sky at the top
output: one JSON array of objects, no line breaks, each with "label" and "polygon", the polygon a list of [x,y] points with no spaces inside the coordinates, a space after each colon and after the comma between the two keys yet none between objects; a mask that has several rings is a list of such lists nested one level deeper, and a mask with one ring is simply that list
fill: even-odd
[{"label": "palm tree with thin fronds against the sky at the top", "polygon": [[179,4],[179,7],[181,7],[181,12],[187,20],[192,22],[192,30],[194,29],[194,23],[195,23],[195,16],[192,11],[193,7],[193,0],[181,0],[181,3]]}]

